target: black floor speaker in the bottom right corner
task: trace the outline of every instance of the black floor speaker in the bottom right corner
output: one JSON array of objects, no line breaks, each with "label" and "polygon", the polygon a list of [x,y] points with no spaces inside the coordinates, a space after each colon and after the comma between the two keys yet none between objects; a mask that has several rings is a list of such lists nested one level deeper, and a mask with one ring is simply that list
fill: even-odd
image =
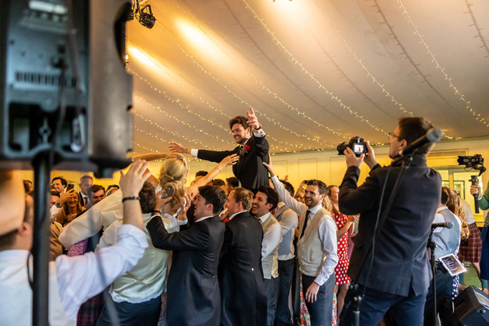
[{"label": "black floor speaker in the bottom right corner", "polygon": [[489,325],[489,297],[474,286],[469,286],[453,300],[457,325]]}]

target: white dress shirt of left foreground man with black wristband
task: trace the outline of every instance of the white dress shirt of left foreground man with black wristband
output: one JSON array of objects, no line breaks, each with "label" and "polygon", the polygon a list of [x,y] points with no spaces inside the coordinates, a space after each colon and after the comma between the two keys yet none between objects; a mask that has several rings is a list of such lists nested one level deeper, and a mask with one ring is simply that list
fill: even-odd
[{"label": "white dress shirt of left foreground man with black wristband", "polygon": [[[55,276],[50,288],[58,288],[59,298],[50,293],[50,303],[61,300],[61,309],[56,304],[50,307],[51,325],[76,324],[78,310],[83,302],[102,292],[119,276],[133,268],[143,257],[147,248],[145,232],[133,225],[122,225],[119,242],[96,253],[85,253],[75,257],[60,255],[50,262],[50,274]],[[29,251],[0,251],[0,319],[1,325],[31,325],[31,297],[18,297],[19,293],[31,295],[27,278]],[[54,316],[53,311],[57,312]],[[65,315],[61,316],[61,315]],[[10,321],[9,321],[10,320]]]}]

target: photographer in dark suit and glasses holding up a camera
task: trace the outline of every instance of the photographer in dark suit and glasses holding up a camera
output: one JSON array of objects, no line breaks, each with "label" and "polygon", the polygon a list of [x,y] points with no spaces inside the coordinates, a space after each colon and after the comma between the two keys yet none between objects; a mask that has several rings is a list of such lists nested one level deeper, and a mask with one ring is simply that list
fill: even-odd
[{"label": "photographer in dark suit and glasses holding up a camera", "polygon": [[[421,117],[400,119],[394,133],[389,133],[389,157],[394,158],[430,128],[430,122]],[[368,249],[372,244],[379,205],[382,202],[382,213],[402,162],[393,161],[391,168],[381,168],[375,161],[372,147],[367,145],[365,163],[371,169],[370,176],[357,187],[364,155],[357,158],[351,149],[344,151],[348,168],[340,186],[340,211],[349,215],[361,214],[348,269],[348,275],[359,284],[360,294],[365,291],[360,305],[360,325],[377,325],[388,310],[395,325],[423,325],[430,286],[426,244],[441,196],[441,177],[426,165],[426,154],[431,147],[432,144],[427,144],[414,154],[386,221],[382,229],[377,230],[373,260],[372,251],[369,253]],[[385,181],[384,198],[381,198]],[[364,257],[366,264],[360,273]],[[351,290],[346,297],[350,295]],[[343,311],[341,325],[352,325],[353,304]]]}]

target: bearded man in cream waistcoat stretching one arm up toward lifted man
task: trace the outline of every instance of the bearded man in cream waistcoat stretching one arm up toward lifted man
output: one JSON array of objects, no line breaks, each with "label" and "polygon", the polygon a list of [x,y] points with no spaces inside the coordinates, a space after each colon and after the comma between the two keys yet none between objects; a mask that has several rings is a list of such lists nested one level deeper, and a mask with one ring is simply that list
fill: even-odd
[{"label": "bearded man in cream waistcoat stretching one arm up toward lifted man", "polygon": [[331,325],[335,267],[338,263],[336,223],[321,205],[327,194],[323,181],[309,180],[305,188],[304,204],[285,190],[273,172],[272,164],[264,164],[270,171],[273,185],[279,197],[295,213],[301,216],[299,228],[298,258],[302,273],[302,289],[305,289],[307,310],[311,325]]}]

